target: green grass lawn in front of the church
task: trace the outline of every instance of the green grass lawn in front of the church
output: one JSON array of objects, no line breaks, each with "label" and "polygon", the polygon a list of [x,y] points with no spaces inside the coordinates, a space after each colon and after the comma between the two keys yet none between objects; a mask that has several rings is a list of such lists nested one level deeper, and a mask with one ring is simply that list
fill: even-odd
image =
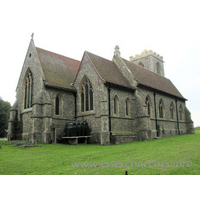
[{"label": "green grass lawn in front of the church", "polygon": [[[119,145],[64,145],[40,144],[42,147],[25,148],[15,147],[0,140],[0,174],[200,174],[200,129],[196,134],[180,135],[151,141],[131,142]],[[191,161],[192,166],[165,167],[156,166],[157,162],[167,162],[174,165],[183,160]],[[129,166],[131,160],[140,162],[140,167]],[[97,162],[98,167],[72,167],[71,162]],[[102,162],[124,162],[124,167],[107,167]],[[126,167],[126,163],[129,167]],[[144,167],[144,162],[153,161]],[[188,163],[188,166],[191,165]],[[175,163],[176,165],[176,163]],[[143,166],[143,167],[142,167]]]}]

